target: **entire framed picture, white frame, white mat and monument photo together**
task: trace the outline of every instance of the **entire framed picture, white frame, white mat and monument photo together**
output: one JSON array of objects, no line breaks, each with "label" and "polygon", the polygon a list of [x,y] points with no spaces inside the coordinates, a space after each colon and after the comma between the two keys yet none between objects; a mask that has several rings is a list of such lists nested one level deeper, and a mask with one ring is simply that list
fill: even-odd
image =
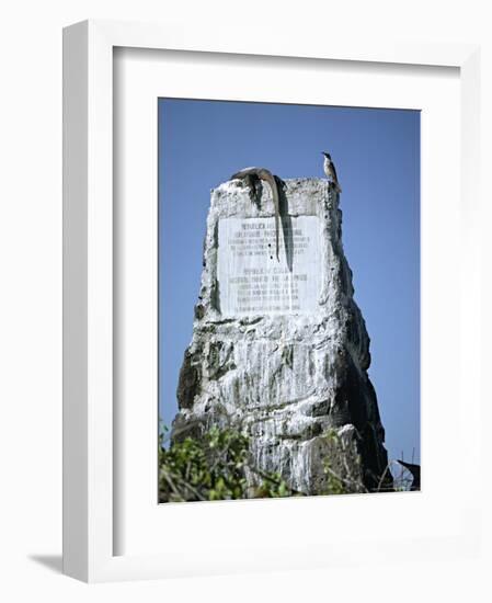
[{"label": "entire framed picture, white frame, white mat and monument photo together", "polygon": [[64,32],[76,578],[478,550],[478,48],[277,42]]}]

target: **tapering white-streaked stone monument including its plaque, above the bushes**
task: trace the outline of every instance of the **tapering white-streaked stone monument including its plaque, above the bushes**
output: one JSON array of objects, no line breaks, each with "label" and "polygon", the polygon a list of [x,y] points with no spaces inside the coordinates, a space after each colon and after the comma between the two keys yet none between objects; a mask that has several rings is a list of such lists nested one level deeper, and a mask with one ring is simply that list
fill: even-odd
[{"label": "tapering white-streaked stone monument including its plaque, above the bushes", "polygon": [[[250,434],[256,467],[279,473],[295,490],[324,492],[327,458],[334,471],[358,480],[353,491],[374,490],[388,459],[367,375],[369,338],[342,247],[339,195],[325,180],[293,179],[281,196],[277,260],[270,252],[275,232],[270,187],[263,186],[260,203],[239,180],[211,192],[172,437],[199,436],[213,424],[237,425]],[[305,216],[318,218],[314,230],[309,223],[308,237],[297,219]],[[241,225],[247,232],[262,224],[268,235],[240,242]],[[225,276],[228,270],[233,274]],[[249,280],[258,274],[285,281],[284,289],[256,291]],[[333,446],[327,432],[337,433],[342,446]]]}]

